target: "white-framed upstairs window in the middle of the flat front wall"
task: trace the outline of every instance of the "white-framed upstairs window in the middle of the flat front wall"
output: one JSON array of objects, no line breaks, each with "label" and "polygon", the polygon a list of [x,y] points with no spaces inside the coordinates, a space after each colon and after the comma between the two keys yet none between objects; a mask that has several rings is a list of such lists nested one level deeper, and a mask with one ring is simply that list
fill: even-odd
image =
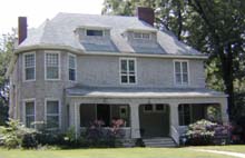
[{"label": "white-framed upstairs window in the middle of the flat front wall", "polygon": [[120,82],[136,83],[136,60],[120,59]]}]

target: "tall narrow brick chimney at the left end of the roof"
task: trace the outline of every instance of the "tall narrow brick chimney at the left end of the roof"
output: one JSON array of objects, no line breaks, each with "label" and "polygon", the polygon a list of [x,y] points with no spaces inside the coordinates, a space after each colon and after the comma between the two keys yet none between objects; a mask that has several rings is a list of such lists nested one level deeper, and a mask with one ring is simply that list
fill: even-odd
[{"label": "tall narrow brick chimney at the left end of the roof", "polygon": [[18,18],[19,45],[27,38],[27,17]]}]

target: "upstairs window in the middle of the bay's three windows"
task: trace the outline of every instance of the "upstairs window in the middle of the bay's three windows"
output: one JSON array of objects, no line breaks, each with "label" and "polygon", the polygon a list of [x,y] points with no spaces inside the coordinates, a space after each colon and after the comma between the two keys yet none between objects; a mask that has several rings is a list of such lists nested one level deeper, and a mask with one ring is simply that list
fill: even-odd
[{"label": "upstairs window in the middle of the bay's three windows", "polygon": [[59,53],[46,53],[46,79],[59,79]]}]

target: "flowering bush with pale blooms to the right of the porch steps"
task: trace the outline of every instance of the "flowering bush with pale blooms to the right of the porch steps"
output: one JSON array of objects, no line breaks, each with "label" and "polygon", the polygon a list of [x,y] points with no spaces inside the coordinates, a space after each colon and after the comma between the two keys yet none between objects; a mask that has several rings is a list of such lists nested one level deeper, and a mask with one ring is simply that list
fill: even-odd
[{"label": "flowering bush with pale blooms to the right of the porch steps", "polygon": [[185,134],[186,144],[194,146],[227,144],[231,129],[232,127],[228,125],[218,125],[202,119],[188,126],[188,130]]}]

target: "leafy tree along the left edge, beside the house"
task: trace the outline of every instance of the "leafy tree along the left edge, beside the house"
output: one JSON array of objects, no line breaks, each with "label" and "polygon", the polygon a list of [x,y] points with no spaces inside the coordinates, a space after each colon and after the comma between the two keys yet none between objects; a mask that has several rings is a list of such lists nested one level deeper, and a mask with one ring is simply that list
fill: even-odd
[{"label": "leafy tree along the left edge, beside the house", "polygon": [[13,41],[16,39],[16,30],[0,38],[0,126],[6,124],[8,119],[9,103],[9,80],[6,72],[13,55]]}]

